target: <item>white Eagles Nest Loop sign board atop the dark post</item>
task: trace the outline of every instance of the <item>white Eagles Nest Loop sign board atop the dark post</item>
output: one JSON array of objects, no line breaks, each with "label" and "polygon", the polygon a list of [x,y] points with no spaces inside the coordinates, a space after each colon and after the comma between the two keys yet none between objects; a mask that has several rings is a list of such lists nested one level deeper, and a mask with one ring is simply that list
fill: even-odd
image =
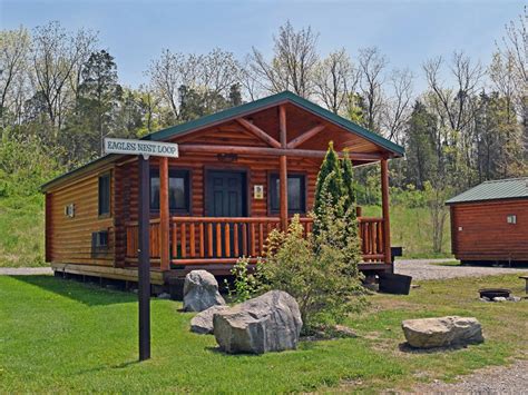
[{"label": "white Eagles Nest Loop sign board atop the dark post", "polygon": [[145,159],[149,156],[177,158],[178,145],[174,142],[106,138],[105,152],[143,155]]}]

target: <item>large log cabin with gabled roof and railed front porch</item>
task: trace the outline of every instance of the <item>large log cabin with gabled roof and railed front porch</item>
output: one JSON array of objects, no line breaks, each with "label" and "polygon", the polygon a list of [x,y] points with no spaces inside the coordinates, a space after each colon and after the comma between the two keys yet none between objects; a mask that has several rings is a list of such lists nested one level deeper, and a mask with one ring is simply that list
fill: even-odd
[{"label": "large log cabin with gabled roof and railed front porch", "polygon": [[[317,172],[329,141],[354,166],[381,167],[382,217],[359,211],[369,273],[392,270],[388,160],[403,148],[285,91],[144,137],[178,144],[149,159],[151,282],[192,269],[227,275],[262,256],[267,234],[294,214],[311,230]],[[46,260],[58,273],[137,280],[138,158],[106,155],[42,186]]]}]

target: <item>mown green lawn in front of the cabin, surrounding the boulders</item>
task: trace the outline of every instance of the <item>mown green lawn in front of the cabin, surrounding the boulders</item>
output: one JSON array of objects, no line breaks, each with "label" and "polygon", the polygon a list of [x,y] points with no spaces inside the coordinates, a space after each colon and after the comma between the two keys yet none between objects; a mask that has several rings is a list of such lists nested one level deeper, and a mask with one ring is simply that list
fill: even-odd
[{"label": "mown green lawn in front of the cabin, surrounding the boulders", "polygon": [[[302,342],[262,356],[224,355],[188,332],[180,303],[153,300],[153,359],[137,363],[134,294],[49,276],[0,277],[0,393],[311,392],[410,388],[506,364],[527,349],[528,300],[486,304],[482,286],[524,294],[515,275],[422,282],[410,296],[374,295],[346,323],[360,337]],[[486,343],[447,353],[400,349],[404,318],[476,316]],[[525,354],[526,357],[526,354]]]}]

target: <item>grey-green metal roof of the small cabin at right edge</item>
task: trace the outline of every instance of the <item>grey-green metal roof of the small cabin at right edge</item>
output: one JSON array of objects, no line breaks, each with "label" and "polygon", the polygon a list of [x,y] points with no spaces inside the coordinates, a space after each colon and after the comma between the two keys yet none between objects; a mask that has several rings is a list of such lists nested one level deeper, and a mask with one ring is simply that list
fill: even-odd
[{"label": "grey-green metal roof of the small cabin at right edge", "polygon": [[486,181],[454,196],[446,204],[521,198],[528,198],[528,177]]}]

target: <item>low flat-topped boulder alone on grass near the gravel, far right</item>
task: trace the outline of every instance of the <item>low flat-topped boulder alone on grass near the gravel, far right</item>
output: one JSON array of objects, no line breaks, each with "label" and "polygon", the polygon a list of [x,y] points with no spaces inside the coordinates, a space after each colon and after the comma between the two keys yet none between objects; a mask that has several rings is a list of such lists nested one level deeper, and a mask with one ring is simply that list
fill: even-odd
[{"label": "low flat-topped boulder alone on grass near the gravel, far right", "polygon": [[410,346],[415,348],[449,347],[482,343],[482,327],[477,318],[440,317],[407,319],[401,324]]}]

